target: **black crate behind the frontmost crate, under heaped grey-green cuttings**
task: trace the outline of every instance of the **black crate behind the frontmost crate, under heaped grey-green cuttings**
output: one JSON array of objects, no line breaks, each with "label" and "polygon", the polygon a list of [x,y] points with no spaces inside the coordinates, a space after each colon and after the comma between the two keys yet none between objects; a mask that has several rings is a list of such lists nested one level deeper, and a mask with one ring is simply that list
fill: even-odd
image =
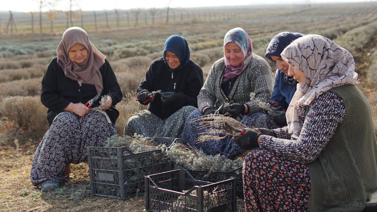
[{"label": "black crate behind the frontmost crate, under heaped grey-green cuttings", "polygon": [[[170,170],[173,169],[186,169],[181,164],[176,164],[175,161],[169,161]],[[237,169],[234,169],[230,172],[210,172],[210,171],[196,171],[196,170],[189,170],[190,174],[196,179],[196,180],[202,180],[202,181],[208,181],[211,183],[216,183],[222,180],[229,179],[230,177],[235,177],[237,180],[237,197],[243,199],[244,198],[244,182],[242,179],[242,166],[238,167]]]}]

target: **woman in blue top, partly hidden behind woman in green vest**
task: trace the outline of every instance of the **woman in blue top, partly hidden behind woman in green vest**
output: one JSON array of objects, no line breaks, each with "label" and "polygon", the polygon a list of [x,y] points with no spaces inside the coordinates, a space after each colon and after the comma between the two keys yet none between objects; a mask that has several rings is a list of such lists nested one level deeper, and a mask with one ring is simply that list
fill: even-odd
[{"label": "woman in blue top, partly hidden behind woman in green vest", "polygon": [[274,90],[272,91],[271,99],[267,100],[267,103],[274,106],[274,112],[265,111],[265,113],[256,112],[249,114],[248,117],[245,117],[247,119],[245,120],[247,126],[276,129],[287,125],[285,110],[287,110],[296,91],[297,81],[293,76],[289,77],[287,75],[289,65],[281,58],[280,54],[285,47],[302,36],[304,35],[298,32],[280,32],[268,44],[265,57],[277,66]]}]

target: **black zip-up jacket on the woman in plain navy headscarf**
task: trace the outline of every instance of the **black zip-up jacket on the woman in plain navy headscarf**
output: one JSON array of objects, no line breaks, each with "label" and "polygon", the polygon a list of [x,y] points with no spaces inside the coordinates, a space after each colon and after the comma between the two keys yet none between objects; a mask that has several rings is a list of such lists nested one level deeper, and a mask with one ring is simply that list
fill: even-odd
[{"label": "black zip-up jacket on the woman in plain navy headscarf", "polygon": [[[163,104],[160,94],[157,94],[152,102],[146,103],[149,103],[148,110],[150,112],[165,120],[183,106],[197,108],[197,97],[202,86],[203,71],[198,64],[190,60],[183,68],[170,73],[164,58],[160,57],[150,64],[145,78],[141,80],[141,84],[136,90],[136,95],[157,90],[181,94],[178,101],[170,104]],[[139,102],[144,104],[141,101]]]}]

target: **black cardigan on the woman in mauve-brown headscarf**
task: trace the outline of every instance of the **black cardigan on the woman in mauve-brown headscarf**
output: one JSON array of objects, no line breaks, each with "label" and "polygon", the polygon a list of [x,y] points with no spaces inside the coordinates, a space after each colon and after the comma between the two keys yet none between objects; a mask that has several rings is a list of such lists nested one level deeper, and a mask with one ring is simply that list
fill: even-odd
[{"label": "black cardigan on the woman in mauve-brown headscarf", "polygon": [[[115,104],[120,102],[123,94],[120,90],[118,81],[109,62],[105,59],[105,63],[100,68],[102,75],[103,91],[101,96],[109,95],[112,98],[112,105],[105,112],[109,116],[112,124],[115,124],[119,116],[119,111],[115,109]],[[94,85],[84,84],[81,86],[76,80],[72,80],[64,75],[63,69],[58,65],[57,58],[51,60],[42,80],[41,102],[47,111],[47,120],[50,125],[55,116],[68,106],[69,103],[83,103],[92,99],[97,95]],[[91,108],[100,105],[101,97],[93,103]]]}]

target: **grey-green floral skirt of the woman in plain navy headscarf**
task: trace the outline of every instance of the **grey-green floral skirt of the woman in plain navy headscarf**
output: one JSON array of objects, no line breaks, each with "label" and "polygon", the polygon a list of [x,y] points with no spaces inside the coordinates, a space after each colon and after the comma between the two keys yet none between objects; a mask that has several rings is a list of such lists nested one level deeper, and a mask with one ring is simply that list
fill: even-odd
[{"label": "grey-green floral skirt of the woman in plain navy headscarf", "polygon": [[196,108],[184,106],[166,120],[144,110],[129,118],[124,127],[124,135],[133,136],[135,133],[144,137],[181,138],[183,126],[189,114]]}]

